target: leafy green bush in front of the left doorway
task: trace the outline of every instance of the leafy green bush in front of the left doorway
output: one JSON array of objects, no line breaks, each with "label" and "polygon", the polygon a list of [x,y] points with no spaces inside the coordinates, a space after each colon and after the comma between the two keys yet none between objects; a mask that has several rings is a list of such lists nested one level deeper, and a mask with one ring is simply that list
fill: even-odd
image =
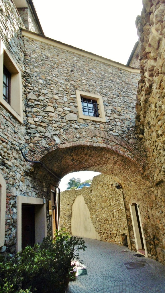
[{"label": "leafy green bush in front of the left doorway", "polygon": [[[56,231],[34,247],[27,246],[13,258],[0,256],[0,293],[60,293],[86,246],[82,238]],[[20,290],[21,288],[21,290]]]}]

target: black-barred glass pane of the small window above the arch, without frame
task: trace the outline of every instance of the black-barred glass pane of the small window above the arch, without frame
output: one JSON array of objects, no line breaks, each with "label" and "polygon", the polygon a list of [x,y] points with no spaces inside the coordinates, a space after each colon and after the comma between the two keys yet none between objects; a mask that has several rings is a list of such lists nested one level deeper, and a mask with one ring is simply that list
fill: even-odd
[{"label": "black-barred glass pane of the small window above the arch, without frame", "polygon": [[99,117],[99,108],[97,101],[83,98],[81,96],[81,105],[84,115]]}]

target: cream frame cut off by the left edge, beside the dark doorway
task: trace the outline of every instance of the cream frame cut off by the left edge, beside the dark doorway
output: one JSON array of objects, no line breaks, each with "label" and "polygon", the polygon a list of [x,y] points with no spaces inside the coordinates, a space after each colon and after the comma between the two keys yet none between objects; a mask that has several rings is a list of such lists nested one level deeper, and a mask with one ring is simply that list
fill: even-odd
[{"label": "cream frame cut off by the left edge, beside the dark doorway", "polygon": [[6,182],[0,173],[0,247],[5,241]]}]

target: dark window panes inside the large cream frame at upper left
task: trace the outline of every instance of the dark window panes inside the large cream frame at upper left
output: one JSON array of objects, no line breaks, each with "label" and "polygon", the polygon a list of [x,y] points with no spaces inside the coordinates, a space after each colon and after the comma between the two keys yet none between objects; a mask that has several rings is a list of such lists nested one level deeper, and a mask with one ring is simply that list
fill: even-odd
[{"label": "dark window panes inside the large cream frame at upper left", "polygon": [[11,74],[9,70],[4,66],[4,75],[3,75],[3,98],[10,104],[10,93],[11,93]]}]

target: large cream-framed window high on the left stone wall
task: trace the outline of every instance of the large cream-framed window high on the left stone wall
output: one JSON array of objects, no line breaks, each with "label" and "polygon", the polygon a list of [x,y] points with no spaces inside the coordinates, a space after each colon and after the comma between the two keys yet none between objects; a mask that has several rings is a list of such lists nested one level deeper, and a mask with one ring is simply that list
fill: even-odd
[{"label": "large cream-framed window high on the left stone wall", "polygon": [[[6,84],[6,74],[7,78],[10,76],[9,87]],[[7,98],[4,95],[6,95],[8,89],[10,91]],[[23,123],[21,71],[2,40],[0,40],[0,103],[19,122]]]}]

